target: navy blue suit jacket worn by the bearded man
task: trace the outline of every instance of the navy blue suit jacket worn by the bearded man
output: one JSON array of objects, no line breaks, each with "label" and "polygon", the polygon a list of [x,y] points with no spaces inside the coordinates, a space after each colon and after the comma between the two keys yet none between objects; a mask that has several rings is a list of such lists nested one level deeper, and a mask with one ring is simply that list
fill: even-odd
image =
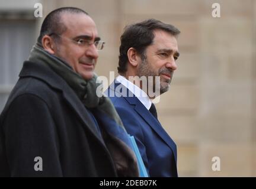
[{"label": "navy blue suit jacket worn by the bearded man", "polygon": [[177,148],[161,123],[117,80],[114,80],[105,94],[116,107],[127,132],[135,136],[149,176],[178,177]]}]

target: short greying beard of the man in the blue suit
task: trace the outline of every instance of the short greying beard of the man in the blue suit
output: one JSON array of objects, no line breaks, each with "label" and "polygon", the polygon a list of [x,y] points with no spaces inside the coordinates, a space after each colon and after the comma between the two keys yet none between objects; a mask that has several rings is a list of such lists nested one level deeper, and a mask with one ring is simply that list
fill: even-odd
[{"label": "short greying beard of the man in the blue suit", "polygon": [[[153,70],[151,64],[148,63],[148,60],[146,59],[146,57],[142,56],[142,61],[139,64],[136,75],[139,77],[146,76],[148,89],[149,87],[153,87],[154,92],[156,89],[159,89],[160,94],[162,94],[169,90],[173,73],[174,71],[172,71],[171,69],[167,69],[166,67],[162,67],[159,70]],[[161,74],[168,74],[169,76],[171,76],[171,78],[165,79],[164,77],[160,76]],[[152,77],[152,80],[149,80],[149,76]],[[156,82],[157,81],[156,77],[160,77],[160,82]],[[159,84],[160,84],[160,87],[157,86]]]}]

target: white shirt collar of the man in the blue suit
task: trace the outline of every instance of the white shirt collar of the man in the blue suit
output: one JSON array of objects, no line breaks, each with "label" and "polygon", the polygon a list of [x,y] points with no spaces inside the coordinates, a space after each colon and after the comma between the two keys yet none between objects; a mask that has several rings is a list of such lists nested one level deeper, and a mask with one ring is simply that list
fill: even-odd
[{"label": "white shirt collar of the man in the blue suit", "polygon": [[146,94],[142,89],[140,89],[138,86],[136,86],[123,76],[117,76],[116,80],[117,82],[123,84],[123,86],[125,86],[127,89],[129,89],[130,92],[135,94],[137,99],[139,99],[139,101],[146,107],[146,109],[150,109],[152,102],[151,99],[149,99],[148,94]]}]

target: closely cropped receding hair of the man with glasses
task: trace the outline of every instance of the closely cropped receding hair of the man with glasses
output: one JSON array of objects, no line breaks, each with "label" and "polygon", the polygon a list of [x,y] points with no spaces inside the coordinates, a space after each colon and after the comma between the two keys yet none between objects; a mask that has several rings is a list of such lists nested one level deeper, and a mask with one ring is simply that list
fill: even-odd
[{"label": "closely cropped receding hair of the man with glasses", "polygon": [[[71,14],[82,13],[82,14],[88,15],[88,13],[85,12],[84,10],[71,7],[71,6],[62,7],[62,8],[53,10],[46,16],[46,18],[44,18],[43,24],[41,25],[40,35],[37,38],[37,42],[41,43],[41,40],[44,37],[44,35],[49,35],[49,34],[60,35],[66,31],[66,26],[61,19],[62,14],[66,12]],[[56,35],[53,35],[53,37],[56,37]]]}]

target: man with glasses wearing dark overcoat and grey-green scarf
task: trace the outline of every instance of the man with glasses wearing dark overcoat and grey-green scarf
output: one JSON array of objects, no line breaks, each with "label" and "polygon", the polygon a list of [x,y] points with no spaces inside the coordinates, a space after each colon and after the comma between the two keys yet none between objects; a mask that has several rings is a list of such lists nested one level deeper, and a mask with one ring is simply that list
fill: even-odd
[{"label": "man with glasses wearing dark overcoat and grey-green scarf", "polygon": [[133,177],[119,116],[96,95],[104,42],[78,8],[50,12],[0,116],[0,175]]}]

